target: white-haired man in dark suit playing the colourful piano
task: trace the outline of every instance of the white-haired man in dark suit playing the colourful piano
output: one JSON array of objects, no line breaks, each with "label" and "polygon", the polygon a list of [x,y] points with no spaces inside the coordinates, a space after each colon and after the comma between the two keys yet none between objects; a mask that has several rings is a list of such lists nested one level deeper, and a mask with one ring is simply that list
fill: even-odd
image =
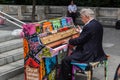
[{"label": "white-haired man in dark suit playing the colourful piano", "polygon": [[95,14],[91,9],[82,9],[80,15],[85,25],[79,37],[68,41],[76,48],[70,56],[62,60],[60,80],[72,80],[71,61],[89,63],[106,59],[102,48],[103,26],[94,19]]}]

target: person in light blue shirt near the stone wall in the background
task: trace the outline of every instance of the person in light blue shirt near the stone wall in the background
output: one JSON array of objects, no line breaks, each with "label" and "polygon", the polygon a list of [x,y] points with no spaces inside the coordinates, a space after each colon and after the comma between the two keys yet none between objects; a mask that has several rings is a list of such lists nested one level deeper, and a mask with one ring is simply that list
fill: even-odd
[{"label": "person in light blue shirt near the stone wall in the background", "polygon": [[74,24],[75,24],[75,18],[76,18],[76,11],[77,11],[77,6],[74,4],[72,0],[70,5],[68,6],[68,16],[72,17]]}]

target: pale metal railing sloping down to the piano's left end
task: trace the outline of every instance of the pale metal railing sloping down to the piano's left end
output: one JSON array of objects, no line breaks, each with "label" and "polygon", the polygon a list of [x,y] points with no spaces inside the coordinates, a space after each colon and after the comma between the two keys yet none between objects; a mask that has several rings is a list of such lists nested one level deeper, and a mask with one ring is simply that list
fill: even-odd
[{"label": "pale metal railing sloping down to the piano's left end", "polygon": [[[0,15],[0,18],[4,19],[4,20],[6,20],[6,21],[8,21],[8,22],[10,22],[10,23],[12,23],[12,24],[20,27],[20,28],[22,28],[22,25],[25,24],[24,22],[22,22],[22,21],[20,21],[20,20],[18,20],[18,19],[16,19],[16,18],[14,18],[14,17],[12,17],[12,16],[10,16],[10,15],[2,12],[2,11],[0,11],[0,14],[1,14],[1,15]],[[6,17],[8,17],[8,18],[6,18]],[[14,20],[15,22],[14,22],[13,20]],[[16,22],[17,22],[17,23],[16,23]],[[19,23],[19,24],[18,24],[18,23]]]}]

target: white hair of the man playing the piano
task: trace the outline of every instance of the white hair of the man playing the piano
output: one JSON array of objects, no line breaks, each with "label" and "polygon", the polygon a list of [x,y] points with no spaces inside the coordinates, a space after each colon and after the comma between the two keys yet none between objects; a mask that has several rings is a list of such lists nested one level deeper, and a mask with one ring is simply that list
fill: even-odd
[{"label": "white hair of the man playing the piano", "polygon": [[88,16],[90,18],[95,18],[95,13],[90,8],[83,8],[83,9],[81,9],[80,10],[80,15],[82,15],[82,16]]}]

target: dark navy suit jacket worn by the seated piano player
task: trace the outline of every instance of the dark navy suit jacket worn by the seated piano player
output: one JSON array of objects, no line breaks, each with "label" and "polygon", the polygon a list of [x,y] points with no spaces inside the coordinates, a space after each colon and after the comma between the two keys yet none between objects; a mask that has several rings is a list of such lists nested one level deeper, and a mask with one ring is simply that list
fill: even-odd
[{"label": "dark navy suit jacket worn by the seated piano player", "polygon": [[80,62],[95,62],[106,59],[102,48],[103,26],[95,19],[84,26],[80,36],[70,39],[69,44],[76,46],[72,59]]}]

